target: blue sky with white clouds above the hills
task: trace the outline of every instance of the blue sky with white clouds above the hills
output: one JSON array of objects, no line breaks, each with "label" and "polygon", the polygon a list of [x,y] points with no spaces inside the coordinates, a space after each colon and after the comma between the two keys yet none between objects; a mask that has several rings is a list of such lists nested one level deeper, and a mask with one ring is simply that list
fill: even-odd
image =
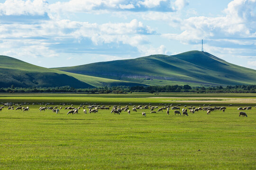
[{"label": "blue sky with white clouds above the hills", "polygon": [[256,69],[256,0],[0,0],[0,55],[46,68],[204,51]]}]

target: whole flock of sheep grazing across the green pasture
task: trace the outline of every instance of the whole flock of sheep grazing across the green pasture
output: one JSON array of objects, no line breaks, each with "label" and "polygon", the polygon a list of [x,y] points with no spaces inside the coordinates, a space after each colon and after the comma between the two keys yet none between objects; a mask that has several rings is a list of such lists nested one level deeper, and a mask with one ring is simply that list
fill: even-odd
[{"label": "whole flock of sheep grazing across the green pasture", "polygon": [[[23,111],[28,111],[29,110],[29,107],[23,107],[23,105],[29,105],[30,103],[20,103],[20,104],[14,104],[14,103],[1,103],[3,104],[2,107],[0,107],[0,111],[2,109],[4,109],[4,106],[8,106],[8,110],[14,110],[14,105],[17,106],[17,108],[15,110],[23,110]],[[52,110],[53,113],[60,113],[60,110],[63,109],[62,106],[65,106],[65,105],[71,105],[70,107],[64,107],[64,110],[68,110],[67,112],[67,115],[68,114],[78,114],[78,111],[83,108],[83,113],[87,113],[86,109],[89,109],[89,113],[97,113],[99,110],[110,110],[111,106],[108,106],[106,107],[105,105],[98,105],[98,104],[89,104],[89,103],[85,103],[88,105],[88,107],[86,107],[83,104],[80,104],[80,106],[78,108],[75,108],[73,107],[73,104],[71,103],[60,103],[61,107],[58,108],[58,106],[55,106],[55,107],[47,107],[49,104],[52,104],[54,105],[54,103],[37,103],[39,105],[44,105],[44,107],[40,107],[39,108],[39,111],[46,111],[46,110]],[[32,105],[35,105],[35,103],[33,103]],[[129,105],[132,105],[131,103],[129,103]],[[144,105],[144,104],[143,104]],[[160,105],[164,105],[164,104],[160,104]],[[227,109],[226,107],[211,107],[211,105],[209,104],[208,106],[205,106],[205,104],[203,105],[203,107],[199,106],[198,108],[196,107],[193,107],[193,106],[186,106],[184,105],[184,108],[182,109],[182,112],[180,111],[180,106],[181,104],[178,104],[177,106],[173,106],[173,104],[169,104],[169,105],[166,105],[161,107],[161,108],[158,108],[158,106],[151,106],[151,103],[149,103],[148,105],[145,105],[144,107],[142,107],[142,105],[139,105],[139,106],[136,106],[134,105],[132,107],[132,111],[135,111],[137,112],[137,110],[145,110],[145,109],[150,109],[150,113],[156,113],[156,112],[159,112],[159,111],[162,111],[163,110],[166,110],[166,113],[167,115],[170,114],[170,110],[174,110],[174,115],[178,114],[178,115],[182,115],[183,116],[188,116],[188,110],[190,113],[195,113],[196,111],[206,111],[207,114],[210,114],[211,111],[216,111],[216,110],[219,110],[219,111],[223,111],[225,112],[225,110]],[[229,106],[232,106],[232,104],[230,104]],[[256,106],[255,106],[256,107]],[[237,110],[251,110],[252,107],[239,107]],[[156,111],[157,110],[157,111]],[[128,114],[131,113],[131,110],[129,110],[129,106],[125,106],[125,107],[121,107],[121,106],[118,106],[118,105],[114,105],[110,111],[110,113],[114,113],[114,114],[120,114],[122,111],[124,112],[127,112]],[[146,116],[146,113],[145,112],[142,112],[142,116]],[[242,116],[242,117],[247,117],[247,114],[246,112],[244,111],[240,111],[239,112],[239,117]]]}]

